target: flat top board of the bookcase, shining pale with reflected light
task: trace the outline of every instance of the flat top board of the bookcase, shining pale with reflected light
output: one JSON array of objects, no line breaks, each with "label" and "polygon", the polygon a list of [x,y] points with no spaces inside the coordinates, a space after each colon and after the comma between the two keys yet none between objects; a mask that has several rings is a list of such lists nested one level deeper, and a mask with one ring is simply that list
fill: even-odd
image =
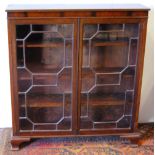
[{"label": "flat top board of the bookcase, shining pale with reflected light", "polygon": [[149,10],[141,4],[10,4],[6,8],[7,12],[16,11],[56,11],[56,10]]}]

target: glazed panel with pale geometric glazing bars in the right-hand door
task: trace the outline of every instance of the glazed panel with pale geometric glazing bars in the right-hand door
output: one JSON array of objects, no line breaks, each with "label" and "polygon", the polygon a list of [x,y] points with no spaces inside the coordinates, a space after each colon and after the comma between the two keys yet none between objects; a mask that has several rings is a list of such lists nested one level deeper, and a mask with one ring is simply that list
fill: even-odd
[{"label": "glazed panel with pale geometric glazing bars in the right-hand door", "polygon": [[81,21],[80,131],[131,129],[139,25],[135,20]]}]

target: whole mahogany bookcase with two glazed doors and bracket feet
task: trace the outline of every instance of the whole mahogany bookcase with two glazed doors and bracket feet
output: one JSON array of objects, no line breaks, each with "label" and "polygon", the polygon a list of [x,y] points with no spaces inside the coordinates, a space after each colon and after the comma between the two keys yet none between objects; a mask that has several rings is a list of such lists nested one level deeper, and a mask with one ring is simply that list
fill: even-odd
[{"label": "whole mahogany bookcase with two glazed doors and bracket feet", "polygon": [[118,135],[137,142],[148,8],[7,8],[12,150],[33,138]]}]

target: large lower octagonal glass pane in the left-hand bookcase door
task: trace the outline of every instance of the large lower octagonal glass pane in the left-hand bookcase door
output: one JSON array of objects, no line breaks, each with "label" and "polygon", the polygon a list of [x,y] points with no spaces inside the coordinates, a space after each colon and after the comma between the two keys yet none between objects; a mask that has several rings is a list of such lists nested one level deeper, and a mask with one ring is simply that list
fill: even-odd
[{"label": "large lower octagonal glass pane in the left-hand bookcase door", "polygon": [[34,123],[57,123],[63,116],[63,95],[55,86],[33,87],[27,93],[27,116]]}]

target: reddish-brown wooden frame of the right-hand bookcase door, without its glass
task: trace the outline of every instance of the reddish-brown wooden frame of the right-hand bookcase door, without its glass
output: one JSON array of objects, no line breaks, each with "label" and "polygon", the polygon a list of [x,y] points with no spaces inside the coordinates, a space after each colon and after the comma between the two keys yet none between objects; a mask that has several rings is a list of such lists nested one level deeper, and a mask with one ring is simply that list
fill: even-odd
[{"label": "reddish-brown wooden frame of the right-hand bookcase door, without its glass", "polygon": [[[84,24],[122,24],[122,23],[139,23],[139,43],[137,51],[137,67],[136,67],[136,80],[135,80],[135,95],[134,95],[134,106],[132,111],[132,123],[130,128],[114,128],[114,129],[80,129],[80,113],[81,113],[81,68],[82,68],[82,57],[83,57],[83,27]],[[78,131],[81,135],[88,134],[119,134],[136,132],[138,127],[138,114],[140,105],[140,94],[142,84],[142,73],[143,73],[143,60],[145,53],[145,38],[147,29],[147,18],[82,18],[80,19],[80,50],[79,50],[79,66],[78,66]]]}]

